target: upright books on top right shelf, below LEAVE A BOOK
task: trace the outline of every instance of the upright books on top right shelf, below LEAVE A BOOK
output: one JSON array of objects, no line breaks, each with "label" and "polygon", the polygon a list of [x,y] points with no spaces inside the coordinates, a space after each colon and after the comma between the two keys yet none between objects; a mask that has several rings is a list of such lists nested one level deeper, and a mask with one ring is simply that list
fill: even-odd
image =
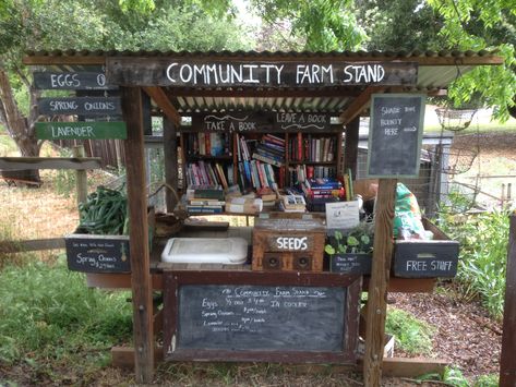
[{"label": "upright books on top right shelf, below LEAVE A BOOK", "polygon": [[289,138],[289,158],[292,161],[331,162],[335,157],[334,137],[312,137],[311,134]]}]

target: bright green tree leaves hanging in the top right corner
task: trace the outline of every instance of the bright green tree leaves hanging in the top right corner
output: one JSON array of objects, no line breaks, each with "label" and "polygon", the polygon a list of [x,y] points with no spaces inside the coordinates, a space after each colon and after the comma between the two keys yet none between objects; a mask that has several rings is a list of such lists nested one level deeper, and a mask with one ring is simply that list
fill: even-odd
[{"label": "bright green tree leaves hanging in the top right corner", "polygon": [[475,69],[451,86],[448,97],[456,106],[480,95],[485,106],[495,107],[494,117],[502,122],[509,117],[508,107],[514,106],[516,94],[515,57],[516,9],[514,1],[481,0],[440,1],[430,5],[443,19],[440,35],[448,49],[481,50],[497,46],[503,65]]}]

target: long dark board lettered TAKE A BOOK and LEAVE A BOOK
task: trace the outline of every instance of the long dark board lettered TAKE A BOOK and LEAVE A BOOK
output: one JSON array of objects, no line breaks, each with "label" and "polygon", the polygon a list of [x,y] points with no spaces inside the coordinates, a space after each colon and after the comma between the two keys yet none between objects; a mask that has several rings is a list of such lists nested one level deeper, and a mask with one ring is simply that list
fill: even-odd
[{"label": "long dark board lettered TAKE A BOOK and LEAVE A BOOK", "polygon": [[199,132],[328,132],[332,128],[327,113],[300,112],[223,112],[192,114],[190,131]]}]

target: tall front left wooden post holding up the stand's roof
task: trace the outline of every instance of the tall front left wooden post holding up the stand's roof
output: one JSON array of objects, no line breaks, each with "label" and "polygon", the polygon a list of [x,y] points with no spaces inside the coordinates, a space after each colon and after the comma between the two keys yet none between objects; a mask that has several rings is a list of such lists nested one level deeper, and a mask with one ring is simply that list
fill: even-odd
[{"label": "tall front left wooden post holding up the stand's roof", "polygon": [[136,383],[151,383],[154,375],[153,298],[147,232],[147,192],[142,117],[142,90],[122,87],[123,118],[128,125],[124,143],[130,223],[131,288]]}]

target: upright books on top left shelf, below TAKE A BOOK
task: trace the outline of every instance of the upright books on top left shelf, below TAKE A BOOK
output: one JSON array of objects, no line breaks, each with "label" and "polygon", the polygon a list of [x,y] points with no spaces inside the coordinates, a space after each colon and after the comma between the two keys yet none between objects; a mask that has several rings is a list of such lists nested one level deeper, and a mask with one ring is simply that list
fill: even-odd
[{"label": "upright books on top left shelf, below TAKE A BOOK", "polygon": [[230,156],[230,134],[225,132],[185,133],[183,136],[185,156]]}]

